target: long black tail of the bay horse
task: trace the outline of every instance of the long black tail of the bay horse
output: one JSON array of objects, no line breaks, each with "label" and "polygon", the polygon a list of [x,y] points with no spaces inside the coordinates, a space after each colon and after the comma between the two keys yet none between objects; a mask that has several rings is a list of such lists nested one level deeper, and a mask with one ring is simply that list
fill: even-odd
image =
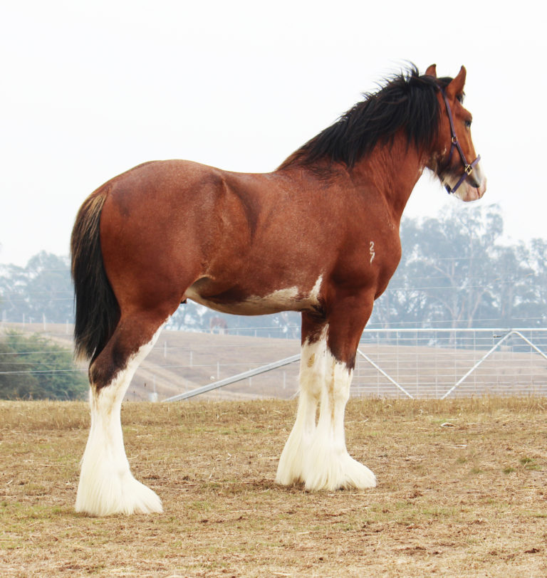
[{"label": "long black tail of the bay horse", "polygon": [[108,189],[101,187],[85,199],[78,211],[71,238],[72,279],[75,296],[75,357],[98,355],[113,334],[120,317],[103,265],[100,248],[100,213]]}]

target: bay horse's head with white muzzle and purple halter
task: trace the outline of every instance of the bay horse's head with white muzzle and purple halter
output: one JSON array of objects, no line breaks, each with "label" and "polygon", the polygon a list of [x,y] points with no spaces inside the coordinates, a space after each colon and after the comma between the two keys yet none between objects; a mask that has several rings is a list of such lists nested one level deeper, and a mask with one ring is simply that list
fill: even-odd
[{"label": "bay horse's head with white muzzle and purple halter", "polygon": [[[435,65],[426,75],[437,78]],[[456,78],[447,82],[439,78],[441,117],[437,142],[427,165],[437,174],[449,193],[462,201],[480,199],[486,191],[486,177],[481,171],[480,156],[475,154],[471,139],[472,115],[462,105],[466,71],[462,66]]]}]

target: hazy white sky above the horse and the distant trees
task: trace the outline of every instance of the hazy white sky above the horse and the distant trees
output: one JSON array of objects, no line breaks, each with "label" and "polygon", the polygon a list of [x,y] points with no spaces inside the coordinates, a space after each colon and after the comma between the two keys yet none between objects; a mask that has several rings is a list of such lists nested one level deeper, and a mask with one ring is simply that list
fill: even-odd
[{"label": "hazy white sky above the horse and the distant trees", "polygon": [[[152,159],[265,172],[404,61],[467,67],[466,105],[511,238],[546,237],[541,5],[19,0],[0,19],[0,263],[68,254],[93,189]],[[407,215],[449,204],[426,177]],[[476,206],[476,204],[475,204]],[[473,210],[464,206],[462,210]]]}]

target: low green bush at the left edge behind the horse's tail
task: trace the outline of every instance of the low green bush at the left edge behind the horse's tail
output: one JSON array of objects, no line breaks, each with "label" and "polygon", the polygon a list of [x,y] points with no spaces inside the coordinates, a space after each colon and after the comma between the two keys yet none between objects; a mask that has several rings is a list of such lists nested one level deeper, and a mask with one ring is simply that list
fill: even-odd
[{"label": "low green bush at the left edge behind the horse's tail", "polygon": [[10,331],[0,353],[2,399],[83,399],[88,391],[72,352],[51,340]]}]

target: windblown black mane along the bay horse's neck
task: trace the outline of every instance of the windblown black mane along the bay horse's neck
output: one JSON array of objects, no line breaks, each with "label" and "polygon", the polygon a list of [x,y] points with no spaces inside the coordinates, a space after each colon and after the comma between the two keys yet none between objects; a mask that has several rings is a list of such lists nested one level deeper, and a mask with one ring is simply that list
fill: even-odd
[{"label": "windblown black mane along the bay horse's neck", "polygon": [[451,80],[420,76],[412,65],[387,80],[376,93],[365,93],[365,100],[291,154],[281,168],[293,162],[309,165],[320,159],[353,167],[376,144],[391,142],[401,129],[408,144],[418,149],[430,147],[441,112],[437,92]]}]

